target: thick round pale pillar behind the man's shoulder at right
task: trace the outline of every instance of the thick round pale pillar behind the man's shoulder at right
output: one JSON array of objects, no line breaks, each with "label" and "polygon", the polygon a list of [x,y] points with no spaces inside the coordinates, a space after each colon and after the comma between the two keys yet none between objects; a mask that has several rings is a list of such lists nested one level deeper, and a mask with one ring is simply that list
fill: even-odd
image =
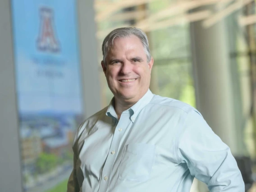
[{"label": "thick round pale pillar behind the man's shoulder at right", "polygon": [[[207,8],[214,9],[214,7]],[[225,21],[220,21],[207,29],[202,27],[200,21],[194,22],[190,25],[190,31],[197,109],[212,130],[230,147],[233,155],[237,155],[239,151],[236,142],[232,76]],[[206,185],[201,182],[198,187],[200,192],[208,191]]]}]

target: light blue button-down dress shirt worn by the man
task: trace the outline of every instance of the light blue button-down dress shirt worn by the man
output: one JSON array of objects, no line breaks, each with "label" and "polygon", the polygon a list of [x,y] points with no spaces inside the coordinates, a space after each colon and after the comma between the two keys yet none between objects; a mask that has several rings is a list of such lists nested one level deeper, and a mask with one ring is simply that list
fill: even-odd
[{"label": "light blue button-down dress shirt worn by the man", "polygon": [[201,114],[150,90],[120,119],[112,102],[78,128],[68,192],[244,192],[229,147]]}]

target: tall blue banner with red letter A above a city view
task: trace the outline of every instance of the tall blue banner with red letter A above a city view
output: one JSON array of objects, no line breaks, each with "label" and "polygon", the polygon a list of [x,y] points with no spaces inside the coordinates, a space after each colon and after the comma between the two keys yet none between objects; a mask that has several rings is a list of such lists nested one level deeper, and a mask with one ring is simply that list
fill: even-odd
[{"label": "tall blue banner with red letter A above a city view", "polygon": [[76,1],[12,0],[23,189],[64,192],[84,117]]}]

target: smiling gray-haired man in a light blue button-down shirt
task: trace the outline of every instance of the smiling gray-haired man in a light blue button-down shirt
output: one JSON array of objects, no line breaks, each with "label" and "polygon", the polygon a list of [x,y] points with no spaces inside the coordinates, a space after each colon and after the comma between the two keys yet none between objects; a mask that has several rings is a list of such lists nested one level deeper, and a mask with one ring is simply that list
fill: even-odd
[{"label": "smiling gray-haired man in a light blue button-down shirt", "polygon": [[118,28],[102,44],[110,105],[78,128],[68,192],[189,192],[194,177],[211,192],[244,192],[229,147],[193,107],[149,90],[146,34]]}]

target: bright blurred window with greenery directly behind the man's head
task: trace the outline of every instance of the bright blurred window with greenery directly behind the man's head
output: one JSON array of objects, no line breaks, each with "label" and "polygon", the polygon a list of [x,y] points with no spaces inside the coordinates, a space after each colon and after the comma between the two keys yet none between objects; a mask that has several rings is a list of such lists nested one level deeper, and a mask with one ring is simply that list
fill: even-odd
[{"label": "bright blurred window with greenery directly behind the man's head", "polygon": [[[184,101],[195,106],[195,91],[190,57],[189,23],[166,23],[166,8],[177,1],[95,1],[99,64],[102,60],[101,44],[114,28],[138,27],[146,32],[154,66],[150,89],[153,93]],[[106,7],[112,6],[111,10]],[[163,14],[163,12],[165,14]],[[170,16],[171,17],[171,16]],[[171,17],[172,18],[172,17]],[[99,68],[102,104],[108,105],[113,94],[105,75]]]}]

